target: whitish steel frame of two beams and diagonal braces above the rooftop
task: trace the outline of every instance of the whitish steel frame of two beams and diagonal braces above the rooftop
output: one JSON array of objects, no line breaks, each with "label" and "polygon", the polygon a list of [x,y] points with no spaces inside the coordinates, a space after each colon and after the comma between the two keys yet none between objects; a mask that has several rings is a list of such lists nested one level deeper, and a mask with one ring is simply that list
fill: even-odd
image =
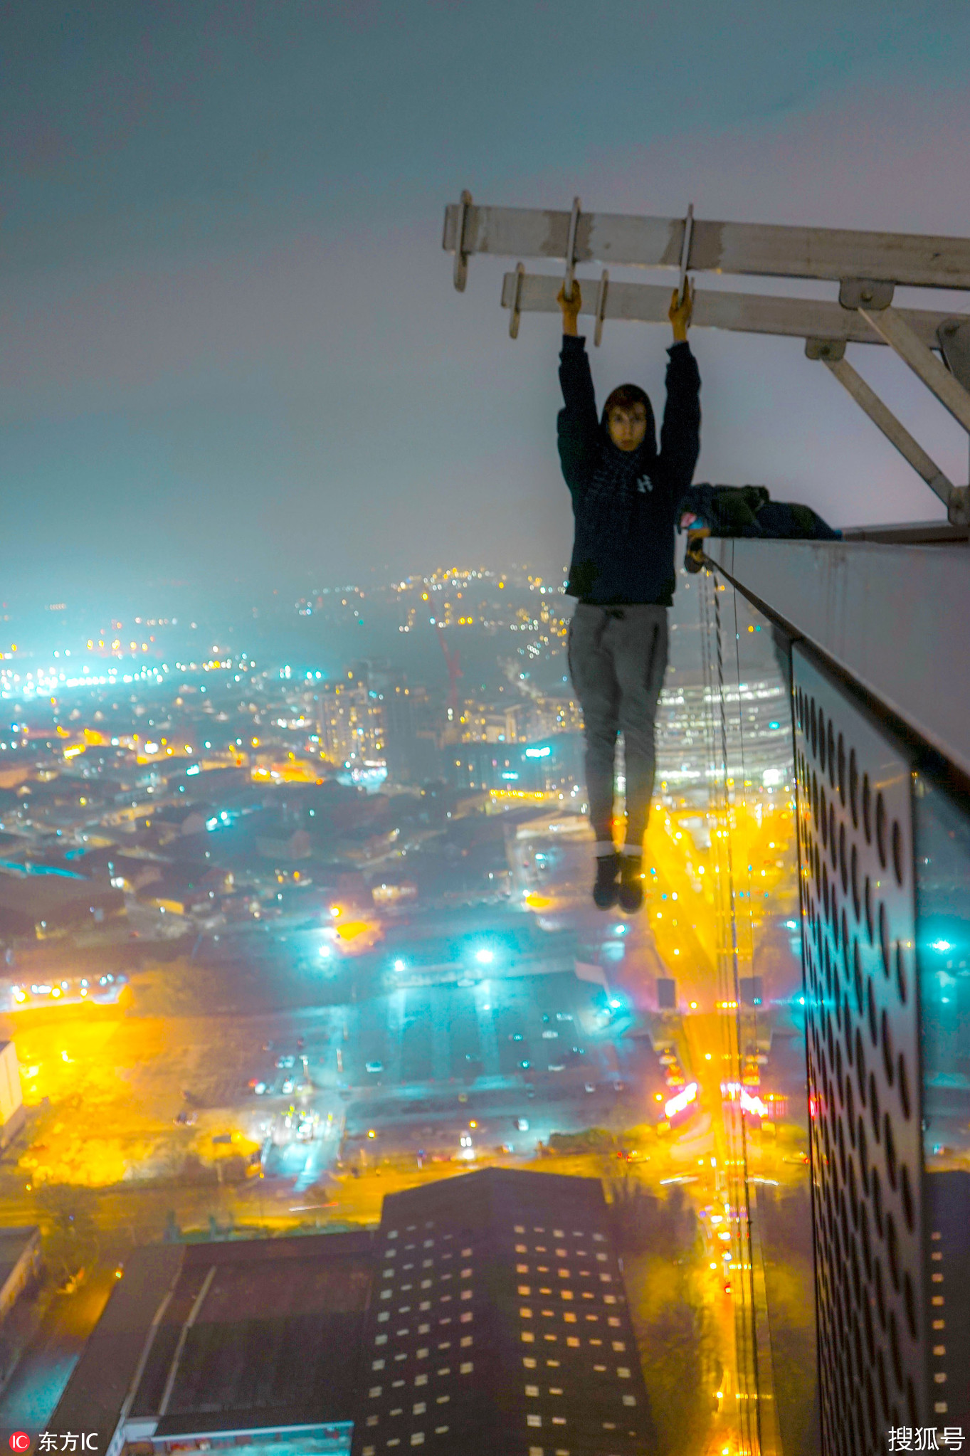
[{"label": "whitish steel frame of two beams and diagonal braces above the rooftop", "polygon": [[[896,285],[970,290],[970,239],[915,233],[784,227],[762,223],[714,223],[683,218],[625,217],[569,211],[479,207],[469,192],[446,208],[443,248],[454,253],[454,287],[465,288],[472,253],[561,259],[565,280],[529,274],[518,264],[502,280],[502,307],[511,338],[523,313],[556,313],[565,282],[581,288],[581,313],[594,320],[594,342],[607,319],[661,323],[670,288],[610,280],[575,278],[578,264],[677,269],[687,272],[814,278],[839,284],[839,300],[823,301],[721,290],[696,291],[693,325],[740,333],[773,333],[805,341],[808,358],[821,360],[870,419],[945,502],[954,524],[970,524],[970,489],[954,485],[913,440],[887,405],[845,360],[846,344],[888,345],[934,396],[970,431],[970,320],[963,314],[893,307]],[[935,351],[942,352],[942,360]],[[945,361],[945,363],[944,363]]]}]

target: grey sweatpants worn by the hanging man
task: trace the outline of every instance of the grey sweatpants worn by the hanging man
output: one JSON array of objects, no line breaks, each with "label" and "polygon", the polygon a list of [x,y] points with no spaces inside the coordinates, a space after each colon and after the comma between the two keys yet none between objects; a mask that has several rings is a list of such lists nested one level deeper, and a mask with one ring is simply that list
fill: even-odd
[{"label": "grey sweatpants worn by the hanging man", "polygon": [[597,840],[613,837],[613,763],[623,734],[626,844],[642,846],[654,792],[654,719],[667,667],[666,607],[593,607],[569,623],[569,673],[585,724],[585,789]]}]

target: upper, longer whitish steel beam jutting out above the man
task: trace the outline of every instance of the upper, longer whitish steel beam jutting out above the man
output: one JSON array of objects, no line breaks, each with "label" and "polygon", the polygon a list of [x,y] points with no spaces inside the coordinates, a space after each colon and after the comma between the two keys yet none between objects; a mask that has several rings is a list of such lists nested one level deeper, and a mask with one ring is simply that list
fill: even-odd
[{"label": "upper, longer whitish steel beam jutting out above the man", "polygon": [[[571,210],[450,204],[443,248],[463,256],[567,258]],[[781,278],[886,280],[923,288],[970,288],[970,239],[919,233],[872,233],[836,227],[693,220],[685,259],[683,217],[583,213],[575,229],[577,264],[685,266],[690,272]],[[460,236],[459,236],[460,234]]]}]

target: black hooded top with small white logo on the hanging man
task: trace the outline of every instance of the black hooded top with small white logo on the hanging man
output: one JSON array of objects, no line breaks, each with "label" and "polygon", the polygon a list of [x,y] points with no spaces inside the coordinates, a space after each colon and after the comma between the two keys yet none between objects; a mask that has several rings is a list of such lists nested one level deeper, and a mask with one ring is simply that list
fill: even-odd
[{"label": "black hooded top with small white logo on the hanging man", "polygon": [[669,354],[660,454],[650,403],[642,446],[623,451],[597,418],[585,339],[562,338],[559,460],[575,517],[567,593],[580,601],[673,603],[676,508],[701,451],[701,374],[689,344]]}]

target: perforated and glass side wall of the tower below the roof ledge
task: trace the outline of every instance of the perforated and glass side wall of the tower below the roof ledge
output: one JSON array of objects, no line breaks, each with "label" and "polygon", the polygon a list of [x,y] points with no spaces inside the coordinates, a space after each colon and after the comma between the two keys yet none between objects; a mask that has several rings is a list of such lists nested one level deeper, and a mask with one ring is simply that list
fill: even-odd
[{"label": "perforated and glass side wall of the tower below the roof ledge", "polygon": [[792,689],[821,1428],[868,1456],[970,1433],[970,821],[801,646]]}]

